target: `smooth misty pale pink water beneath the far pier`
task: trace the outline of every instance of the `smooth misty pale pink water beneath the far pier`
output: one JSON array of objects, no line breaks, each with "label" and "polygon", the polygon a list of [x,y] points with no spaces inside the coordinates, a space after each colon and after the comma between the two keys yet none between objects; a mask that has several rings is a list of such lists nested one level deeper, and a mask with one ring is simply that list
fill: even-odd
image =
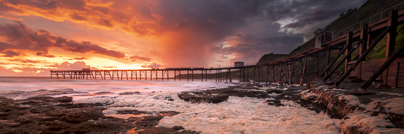
[{"label": "smooth misty pale pink water beneath the far pier", "polygon": [[[186,91],[224,88],[229,85],[224,82],[208,80],[102,80],[102,79],[51,79],[50,77],[0,77],[0,91],[34,91],[39,89],[65,89],[72,88],[74,91],[89,93],[96,92],[134,92],[147,93],[152,91]],[[57,95],[64,96],[67,94]],[[69,94],[68,96],[73,95]],[[78,94],[74,94],[78,95]],[[116,96],[118,94],[100,94],[97,96]],[[73,96],[74,99],[88,96]]]}]

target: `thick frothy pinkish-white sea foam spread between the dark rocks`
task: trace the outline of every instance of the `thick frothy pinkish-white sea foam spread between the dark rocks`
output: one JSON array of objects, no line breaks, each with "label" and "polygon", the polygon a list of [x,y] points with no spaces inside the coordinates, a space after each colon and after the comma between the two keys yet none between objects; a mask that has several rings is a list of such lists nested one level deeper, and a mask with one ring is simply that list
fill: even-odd
[{"label": "thick frothy pinkish-white sea foam spread between the dark rocks", "polygon": [[102,103],[113,102],[103,111],[107,115],[130,109],[178,111],[181,113],[164,117],[158,126],[179,125],[202,133],[340,133],[339,119],[331,119],[292,101],[275,107],[265,104],[264,99],[230,96],[228,101],[218,104],[190,103],[180,99],[177,92],[155,92],[108,99],[84,98],[76,103],[97,102],[97,99]]}]

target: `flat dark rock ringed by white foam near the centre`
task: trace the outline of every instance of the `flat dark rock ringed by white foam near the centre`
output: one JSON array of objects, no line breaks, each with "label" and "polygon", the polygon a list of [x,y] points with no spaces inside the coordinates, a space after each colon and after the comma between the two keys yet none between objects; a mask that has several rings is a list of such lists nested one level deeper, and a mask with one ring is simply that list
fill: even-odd
[{"label": "flat dark rock ringed by white foam near the centre", "polygon": [[229,99],[228,94],[194,94],[189,92],[181,92],[178,97],[185,101],[197,103],[197,102],[208,102],[208,103],[220,103]]}]

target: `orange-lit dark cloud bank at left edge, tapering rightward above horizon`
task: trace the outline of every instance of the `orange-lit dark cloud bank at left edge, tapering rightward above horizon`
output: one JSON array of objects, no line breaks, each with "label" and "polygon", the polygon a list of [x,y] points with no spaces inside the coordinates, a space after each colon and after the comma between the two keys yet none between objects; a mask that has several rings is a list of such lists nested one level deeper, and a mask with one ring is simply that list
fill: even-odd
[{"label": "orange-lit dark cloud bank at left edge, tapering rightward above horizon", "polygon": [[114,50],[107,50],[90,42],[77,42],[64,37],[55,36],[46,30],[32,31],[22,22],[17,24],[0,25],[0,36],[8,40],[9,43],[0,42],[0,51],[6,56],[17,56],[18,53],[5,49],[18,49],[36,51],[37,56],[55,57],[49,55],[48,50],[59,48],[63,51],[73,53],[94,53],[116,58],[124,58],[125,54]]}]

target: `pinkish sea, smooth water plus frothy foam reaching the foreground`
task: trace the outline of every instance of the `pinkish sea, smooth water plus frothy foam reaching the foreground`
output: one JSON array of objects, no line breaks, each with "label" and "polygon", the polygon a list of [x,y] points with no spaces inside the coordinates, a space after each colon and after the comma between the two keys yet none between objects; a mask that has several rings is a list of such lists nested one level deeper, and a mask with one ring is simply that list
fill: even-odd
[{"label": "pinkish sea, smooth water plus frothy foam reaching the foreground", "polygon": [[[133,95],[114,97],[73,96],[75,103],[100,102],[108,104],[107,116],[117,111],[136,109],[153,113],[173,110],[181,112],[160,120],[161,127],[183,126],[201,133],[340,133],[340,119],[301,107],[293,101],[282,100],[285,106],[273,106],[265,99],[230,96],[218,104],[191,103],[178,97],[187,90],[206,90],[233,86],[225,82],[208,80],[101,80],[51,79],[50,77],[0,77],[0,91],[33,91],[39,89],[72,88],[89,93],[109,91],[134,92]],[[167,98],[170,98],[168,100]],[[130,117],[130,116],[119,116]]]}]

